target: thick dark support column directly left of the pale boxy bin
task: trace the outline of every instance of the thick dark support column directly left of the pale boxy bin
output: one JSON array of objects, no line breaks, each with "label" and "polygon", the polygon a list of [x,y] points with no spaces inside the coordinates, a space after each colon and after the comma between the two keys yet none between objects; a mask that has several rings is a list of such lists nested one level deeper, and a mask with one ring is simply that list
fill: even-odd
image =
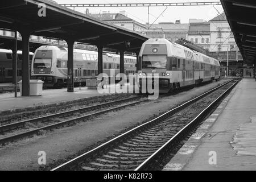
[{"label": "thick dark support column directly left of the pale boxy bin", "polygon": [[22,96],[30,97],[30,31],[22,35]]}]

